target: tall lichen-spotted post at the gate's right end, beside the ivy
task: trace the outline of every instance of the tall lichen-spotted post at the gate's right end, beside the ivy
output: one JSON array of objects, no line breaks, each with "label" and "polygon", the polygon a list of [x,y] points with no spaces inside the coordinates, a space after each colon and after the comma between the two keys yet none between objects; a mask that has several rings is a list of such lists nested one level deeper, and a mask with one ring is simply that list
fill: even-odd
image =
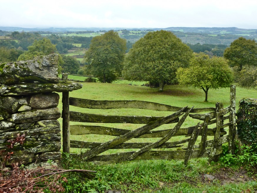
[{"label": "tall lichen-spotted post at the gate's right end, beside the ivy", "polygon": [[232,125],[228,129],[228,152],[235,154],[236,148],[236,85],[230,86],[230,113],[229,122]]}]

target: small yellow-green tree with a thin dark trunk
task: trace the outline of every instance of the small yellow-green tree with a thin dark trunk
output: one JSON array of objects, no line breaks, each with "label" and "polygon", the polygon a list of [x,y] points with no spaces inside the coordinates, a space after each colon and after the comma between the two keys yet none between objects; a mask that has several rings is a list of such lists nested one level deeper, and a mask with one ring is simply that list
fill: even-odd
[{"label": "small yellow-green tree with a thin dark trunk", "polygon": [[176,74],[179,84],[203,89],[206,102],[210,88],[226,88],[233,83],[233,73],[228,66],[228,60],[217,56],[210,58],[203,52],[194,53],[189,67],[179,68]]}]

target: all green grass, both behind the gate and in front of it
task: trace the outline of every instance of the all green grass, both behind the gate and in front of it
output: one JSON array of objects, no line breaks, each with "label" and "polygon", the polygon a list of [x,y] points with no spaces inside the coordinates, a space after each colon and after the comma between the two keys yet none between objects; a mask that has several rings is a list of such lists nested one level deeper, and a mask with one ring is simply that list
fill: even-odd
[{"label": "all green grass, both behind the gate and in front of it", "polygon": [[[84,80],[86,77],[72,76],[71,79]],[[149,88],[140,86],[143,82],[133,82],[128,85],[129,81],[119,80],[115,83],[82,83],[83,88],[74,90],[70,93],[70,97],[86,98],[92,100],[145,100],[157,103],[163,103],[173,106],[195,108],[202,107],[215,107],[216,102],[222,102],[224,106],[229,105],[229,88],[222,88],[219,90],[209,90],[209,102],[204,102],[204,92],[200,89],[191,87],[184,87],[181,85],[166,85],[163,92],[158,92],[158,88]],[[139,83],[139,84],[138,84]],[[236,90],[236,105],[241,98],[249,97],[255,98],[256,90],[244,90],[237,88]],[[61,97],[61,95],[60,95]],[[61,98],[59,108],[62,107]],[[160,112],[153,110],[141,109],[84,109],[70,106],[70,110],[95,113],[95,114],[109,114],[109,115],[139,115],[139,116],[166,116],[172,112]],[[61,121],[61,119],[60,119]],[[187,118],[183,126],[195,125],[197,121]],[[73,124],[80,124],[70,122]],[[84,123],[83,123],[84,124]],[[88,123],[94,124],[94,123]],[[105,125],[116,128],[135,129],[141,125],[138,124],[103,124],[95,123],[94,125]],[[171,128],[174,124],[166,124],[163,128]],[[183,136],[182,136],[183,137]],[[71,139],[91,142],[104,142],[113,139],[110,136],[97,136],[97,135],[71,135]],[[178,140],[181,137],[173,137],[172,141]],[[133,142],[148,142],[155,139],[144,138],[132,139]],[[130,142],[131,142],[130,141]],[[199,139],[198,139],[199,142]],[[196,144],[198,143],[196,142]],[[80,153],[81,149],[71,149],[74,153]],[[126,151],[131,151],[128,149]],[[134,149],[133,149],[134,150]],[[108,153],[115,153],[118,150],[109,150]],[[104,153],[105,154],[105,153]],[[64,160],[64,165],[67,169],[89,169],[97,171],[97,176],[93,180],[84,181],[86,185],[78,185],[78,178],[76,175],[67,176],[74,180],[75,186],[72,187],[90,187],[95,192],[106,192],[106,189],[115,189],[127,193],[246,193],[255,192],[257,190],[256,179],[249,178],[242,173],[242,169],[238,167],[225,168],[220,164],[208,164],[208,159],[191,159],[187,167],[183,166],[183,161],[178,160],[148,160],[148,161],[130,161],[120,164],[109,164],[106,166],[97,166],[86,164],[79,159]],[[203,174],[212,174],[216,177],[214,180],[203,180]],[[242,182],[233,182],[230,180],[235,175],[241,175]],[[243,176],[242,176],[243,175]],[[89,189],[90,189],[89,188]],[[69,192],[69,191],[67,191]],[[79,191],[78,191],[79,192]],[[90,192],[90,191],[89,191]]]}]

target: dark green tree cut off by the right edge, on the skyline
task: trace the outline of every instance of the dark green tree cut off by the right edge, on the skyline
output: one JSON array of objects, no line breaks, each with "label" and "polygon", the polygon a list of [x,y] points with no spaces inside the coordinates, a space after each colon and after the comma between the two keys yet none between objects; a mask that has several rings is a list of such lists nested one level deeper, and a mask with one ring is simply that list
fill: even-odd
[{"label": "dark green tree cut off by the right edge, on the skyline", "polygon": [[224,51],[224,57],[229,60],[231,66],[257,65],[257,43],[255,40],[239,37],[234,40],[230,47]]}]

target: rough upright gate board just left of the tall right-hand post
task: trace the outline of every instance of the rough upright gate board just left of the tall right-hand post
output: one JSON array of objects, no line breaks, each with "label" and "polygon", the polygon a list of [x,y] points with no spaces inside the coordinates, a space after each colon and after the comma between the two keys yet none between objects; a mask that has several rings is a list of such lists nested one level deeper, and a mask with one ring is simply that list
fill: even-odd
[{"label": "rough upright gate board just left of the tall right-hand post", "polygon": [[221,103],[216,103],[216,131],[215,131],[215,135],[213,138],[213,146],[211,148],[211,152],[209,154],[209,163],[211,163],[211,161],[213,160],[213,157],[216,154],[217,151],[217,146],[218,146],[218,140],[220,138],[220,134],[221,134],[221,119],[220,119],[220,109],[221,109]]}]

